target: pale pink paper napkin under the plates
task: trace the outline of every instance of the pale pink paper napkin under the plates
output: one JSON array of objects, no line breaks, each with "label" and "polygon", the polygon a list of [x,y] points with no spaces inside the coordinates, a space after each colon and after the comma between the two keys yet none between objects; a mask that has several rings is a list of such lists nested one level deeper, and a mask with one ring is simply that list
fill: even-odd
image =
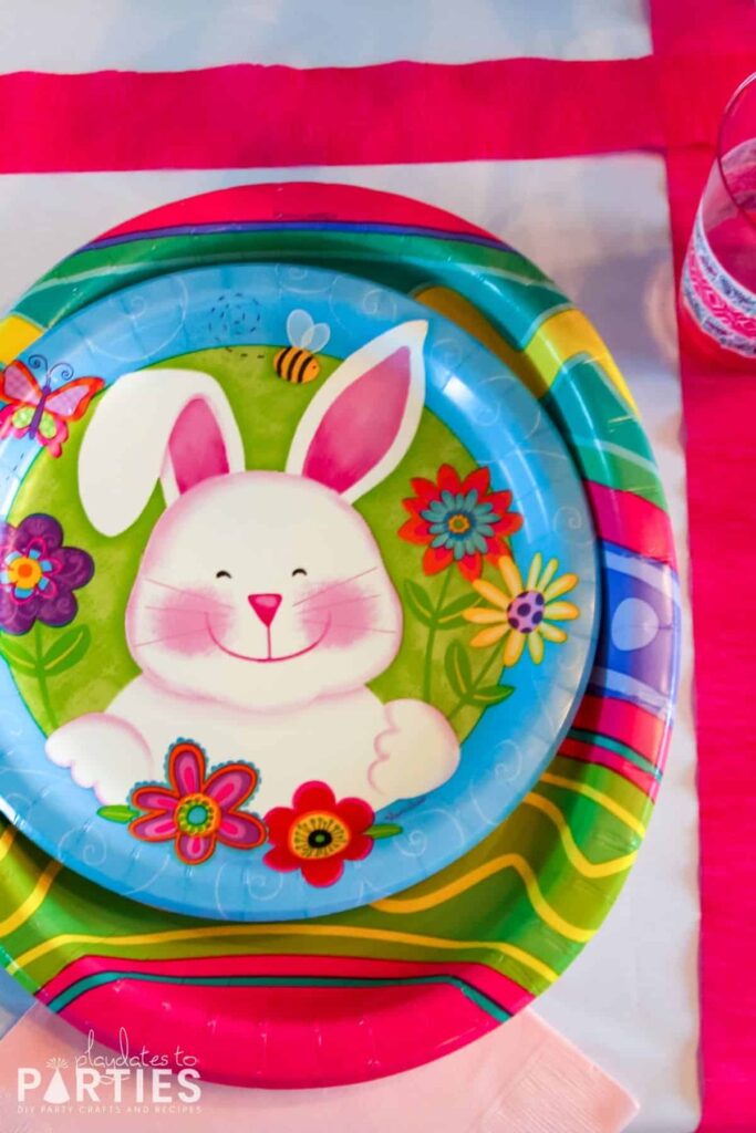
[{"label": "pale pink paper napkin under the plates", "polygon": [[[36,1005],[0,1042],[0,1128],[3,1133],[86,1133],[90,1123],[109,1130],[227,1133],[231,1115],[247,1128],[291,1133],[299,1127],[354,1133],[620,1133],[636,1102],[598,1066],[532,1011],[491,1034],[406,1074],[360,1085],[323,1090],[244,1090],[188,1081],[168,1072],[151,1099],[152,1071],[144,1071],[144,1101],[131,1071],[116,1100],[111,1081],[94,1097],[75,1096],[76,1065],[84,1065],[85,1036]],[[94,1046],[87,1067],[112,1051]],[[37,1083],[39,1072],[39,1084]],[[91,1072],[96,1082],[100,1072]],[[103,1070],[103,1074],[105,1071]],[[124,1072],[126,1073],[126,1072]],[[18,1080],[25,1085],[19,1100]],[[189,1075],[190,1079],[190,1075]],[[189,1098],[181,1100],[182,1092]],[[197,1097],[198,1093],[198,1097]],[[44,1101],[44,1096],[48,1101]],[[107,1116],[104,1116],[107,1115]],[[93,1125],[93,1127],[95,1127]]]}]

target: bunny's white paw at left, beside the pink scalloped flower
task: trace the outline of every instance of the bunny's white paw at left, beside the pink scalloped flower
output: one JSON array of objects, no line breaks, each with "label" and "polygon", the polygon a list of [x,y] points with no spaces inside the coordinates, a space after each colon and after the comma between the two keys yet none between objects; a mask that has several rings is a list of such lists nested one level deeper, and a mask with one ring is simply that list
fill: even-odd
[{"label": "bunny's white paw at left, beside the pink scalloped flower", "polygon": [[45,752],[51,763],[70,768],[78,786],[92,787],[101,803],[126,802],[135,783],[153,777],[141,734],[108,713],[63,724],[48,738]]}]

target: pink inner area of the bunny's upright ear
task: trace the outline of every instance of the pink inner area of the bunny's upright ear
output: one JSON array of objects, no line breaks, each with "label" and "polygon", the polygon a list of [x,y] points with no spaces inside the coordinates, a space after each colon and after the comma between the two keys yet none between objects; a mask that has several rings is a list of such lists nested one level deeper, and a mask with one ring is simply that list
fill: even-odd
[{"label": "pink inner area of the bunny's upright ear", "polygon": [[304,476],[347,492],[393,444],[409,394],[409,348],[368,369],[325,412],[312,440]]}]

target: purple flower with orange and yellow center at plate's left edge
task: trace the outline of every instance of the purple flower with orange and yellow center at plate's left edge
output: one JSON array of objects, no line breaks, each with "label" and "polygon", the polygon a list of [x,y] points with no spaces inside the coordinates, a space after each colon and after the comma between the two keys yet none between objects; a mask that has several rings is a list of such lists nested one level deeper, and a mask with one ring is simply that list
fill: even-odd
[{"label": "purple flower with orange and yellow center at plate's left edge", "polygon": [[18,527],[0,522],[0,629],[28,633],[36,621],[68,625],[78,604],[74,590],[94,574],[92,556],[63,547],[52,516],[27,516]]}]

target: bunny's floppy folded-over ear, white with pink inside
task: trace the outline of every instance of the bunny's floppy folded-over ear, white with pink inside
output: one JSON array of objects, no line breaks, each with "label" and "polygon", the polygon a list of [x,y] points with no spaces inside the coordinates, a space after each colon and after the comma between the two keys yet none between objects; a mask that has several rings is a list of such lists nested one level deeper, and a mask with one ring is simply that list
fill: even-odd
[{"label": "bunny's floppy folded-over ear, white with pink inside", "polygon": [[231,407],[197,370],[125,374],[101,398],[78,458],[82,503],[103,535],[142,514],[158,480],[165,503],[211,476],[244,470]]}]

